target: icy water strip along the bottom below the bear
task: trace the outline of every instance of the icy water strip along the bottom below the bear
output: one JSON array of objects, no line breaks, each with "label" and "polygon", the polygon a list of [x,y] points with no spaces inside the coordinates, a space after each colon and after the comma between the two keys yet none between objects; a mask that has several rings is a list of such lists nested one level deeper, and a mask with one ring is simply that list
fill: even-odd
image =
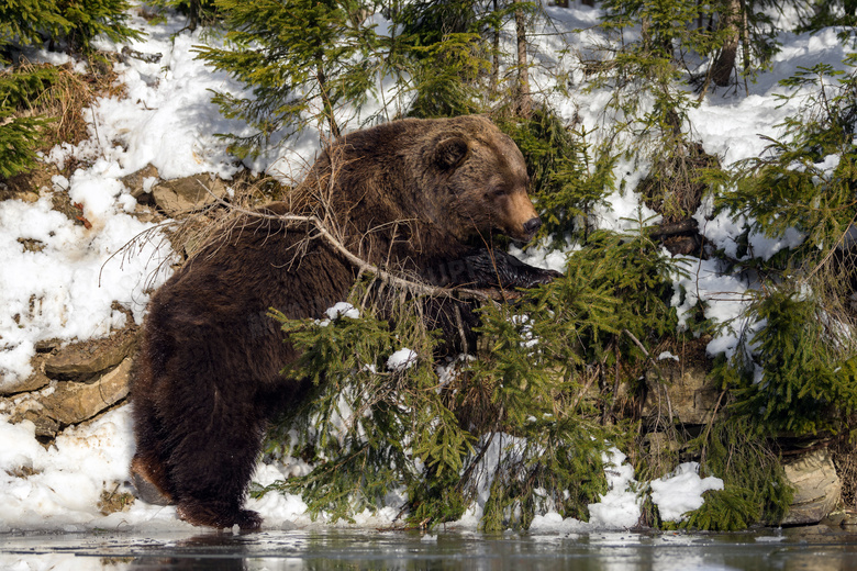
[{"label": "icy water strip along the bottom below the bear", "polygon": [[857,533],[745,534],[290,530],[0,535],[0,569],[31,570],[857,570]]}]

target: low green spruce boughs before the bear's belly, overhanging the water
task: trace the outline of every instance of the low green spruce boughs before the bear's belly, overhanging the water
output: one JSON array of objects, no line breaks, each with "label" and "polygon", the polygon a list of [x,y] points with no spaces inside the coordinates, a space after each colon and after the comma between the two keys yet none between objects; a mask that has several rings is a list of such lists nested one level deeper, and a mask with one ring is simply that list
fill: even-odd
[{"label": "low green spruce boughs before the bear's belly, overhanging the water", "polygon": [[[409,519],[433,526],[460,518],[492,481],[483,529],[526,528],[550,510],[586,518],[587,504],[605,492],[602,452],[623,438],[600,426],[582,392],[585,339],[615,331],[609,288],[589,284],[593,272],[608,271],[606,262],[569,269],[514,309],[486,307],[490,350],[441,377],[436,335],[415,316],[419,300],[394,310],[391,322],[368,307],[359,318],[323,323],[279,315],[301,355],[289,374],[318,390],[275,430],[269,454],[285,447],[314,469],[267,491],[300,492],[312,513],[347,518],[405,486]],[[366,300],[366,291],[358,287],[352,299]],[[402,346],[416,358],[391,368],[388,358]]]}]

